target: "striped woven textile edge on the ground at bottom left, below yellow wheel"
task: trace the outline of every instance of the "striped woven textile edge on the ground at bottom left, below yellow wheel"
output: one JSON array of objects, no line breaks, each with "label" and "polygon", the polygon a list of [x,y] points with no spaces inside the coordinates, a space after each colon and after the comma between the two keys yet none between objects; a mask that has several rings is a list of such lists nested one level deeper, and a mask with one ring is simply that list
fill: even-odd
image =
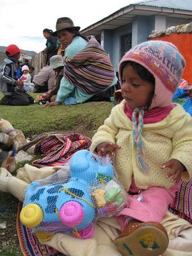
[{"label": "striped woven textile edge on the ground at bottom left, below yellow wheel", "polygon": [[[57,255],[57,251],[47,245],[41,244],[31,228],[27,228],[20,223],[20,210],[22,204],[17,207],[17,235],[19,238],[20,250],[24,256],[51,256]],[[61,254],[60,254],[61,255]],[[63,255],[65,256],[65,255]]]}]

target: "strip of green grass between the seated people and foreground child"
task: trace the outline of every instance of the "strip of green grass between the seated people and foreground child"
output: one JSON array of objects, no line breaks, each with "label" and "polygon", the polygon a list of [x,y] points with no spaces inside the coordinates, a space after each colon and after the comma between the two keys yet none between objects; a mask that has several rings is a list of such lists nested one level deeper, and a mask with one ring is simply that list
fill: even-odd
[{"label": "strip of green grass between the seated people and foreground child", "polygon": [[[52,131],[75,131],[76,127],[88,131],[89,136],[109,116],[110,102],[88,102],[74,106],[45,108],[38,104],[31,106],[0,106],[1,117],[9,120],[15,129],[26,136]],[[89,132],[90,131],[90,132]],[[80,132],[80,131],[78,131]]]}]

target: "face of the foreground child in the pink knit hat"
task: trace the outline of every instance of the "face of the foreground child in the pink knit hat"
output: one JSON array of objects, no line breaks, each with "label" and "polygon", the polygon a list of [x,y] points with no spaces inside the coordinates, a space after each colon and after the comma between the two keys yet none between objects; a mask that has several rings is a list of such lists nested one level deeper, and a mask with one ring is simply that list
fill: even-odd
[{"label": "face of the foreground child in the pink knit hat", "polygon": [[122,95],[129,108],[141,108],[148,105],[154,86],[144,81],[131,65],[126,65],[122,74]]}]

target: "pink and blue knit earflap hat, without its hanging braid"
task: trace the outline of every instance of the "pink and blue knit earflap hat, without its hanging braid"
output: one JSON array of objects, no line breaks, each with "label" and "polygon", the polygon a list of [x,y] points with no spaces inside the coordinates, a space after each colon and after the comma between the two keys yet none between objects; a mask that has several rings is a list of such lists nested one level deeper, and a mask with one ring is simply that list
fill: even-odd
[{"label": "pink and blue knit earflap hat, without its hanging braid", "polygon": [[156,79],[154,99],[149,109],[169,106],[179,86],[185,60],[177,47],[169,42],[148,41],[136,45],[120,61],[119,76],[122,81],[122,64],[134,61],[152,73]]}]

